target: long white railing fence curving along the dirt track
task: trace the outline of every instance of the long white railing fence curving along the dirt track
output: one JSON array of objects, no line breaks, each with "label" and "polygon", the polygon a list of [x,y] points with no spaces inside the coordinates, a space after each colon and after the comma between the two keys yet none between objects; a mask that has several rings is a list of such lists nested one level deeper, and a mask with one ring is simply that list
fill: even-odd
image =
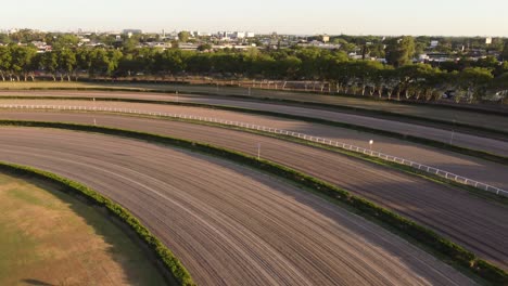
[{"label": "long white railing fence curving along the dirt track", "polygon": [[218,119],[218,118],[211,118],[211,117],[202,117],[202,116],[195,116],[195,115],[187,115],[187,114],[170,114],[170,113],[161,113],[161,112],[147,112],[147,110],[138,110],[138,109],[129,109],[129,108],[117,108],[117,107],[101,107],[101,106],[68,106],[68,105],[22,105],[22,104],[0,104],[0,108],[13,108],[13,109],[59,109],[59,110],[82,110],[82,112],[107,112],[107,113],[125,113],[125,114],[137,114],[137,115],[149,115],[149,116],[158,116],[158,117],[172,117],[172,118],[180,118],[180,119],[186,119],[186,120],[198,120],[198,121],[205,121],[205,122],[213,122],[213,123],[220,123],[220,125],[227,125],[227,126],[236,126],[236,127],[241,127],[245,129],[251,129],[251,130],[257,130],[257,131],[263,131],[263,132],[268,132],[268,133],[275,133],[275,134],[282,134],[282,135],[288,135],[288,136],[293,136],[293,138],[299,138],[303,139],[306,141],[315,142],[315,143],[320,143],[333,147],[339,147],[342,150],[351,151],[351,152],[356,152],[356,153],[361,153],[364,155],[381,158],[386,161],[393,161],[397,164],[402,164],[405,166],[412,167],[415,169],[433,173],[449,180],[453,180],[457,183],[465,184],[465,185],[470,185],[474,186],[477,188],[487,191],[491,193],[495,193],[497,195],[501,196],[507,196],[508,197],[508,191],[501,190],[499,187],[482,183],[472,179],[468,179],[445,170],[441,170],[431,166],[427,166],[423,164],[419,164],[412,160],[399,158],[396,156],[383,154],[377,151],[355,146],[352,144],[346,144],[342,143],[339,141],[333,141],[330,139],[325,139],[325,138],[319,138],[319,136],[312,136],[307,135],[304,133],[300,132],[293,132],[293,131],[288,131],[288,130],[282,130],[282,129],[277,129],[277,128],[270,128],[270,127],[265,127],[265,126],[258,126],[258,125],[252,125],[252,123],[245,123],[245,122],[240,122],[240,121],[231,121],[231,120],[225,120],[225,119]]}]

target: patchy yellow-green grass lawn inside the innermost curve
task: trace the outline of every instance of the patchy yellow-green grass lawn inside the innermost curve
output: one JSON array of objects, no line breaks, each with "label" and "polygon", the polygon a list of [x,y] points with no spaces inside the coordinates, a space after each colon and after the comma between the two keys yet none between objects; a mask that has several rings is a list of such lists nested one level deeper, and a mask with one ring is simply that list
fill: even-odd
[{"label": "patchy yellow-green grass lawn inside the innermost curve", "polygon": [[37,181],[0,173],[0,285],[164,285],[104,214]]}]

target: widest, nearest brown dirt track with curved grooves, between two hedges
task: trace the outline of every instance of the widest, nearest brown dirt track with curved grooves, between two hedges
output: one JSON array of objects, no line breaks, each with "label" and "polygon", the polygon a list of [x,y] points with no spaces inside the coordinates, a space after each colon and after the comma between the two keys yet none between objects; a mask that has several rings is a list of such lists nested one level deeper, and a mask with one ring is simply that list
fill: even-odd
[{"label": "widest, nearest brown dirt track with curved grooves, between two hedges", "polygon": [[200,285],[472,283],[361,218],[218,158],[84,132],[0,133],[0,160],[56,172],[118,202]]}]

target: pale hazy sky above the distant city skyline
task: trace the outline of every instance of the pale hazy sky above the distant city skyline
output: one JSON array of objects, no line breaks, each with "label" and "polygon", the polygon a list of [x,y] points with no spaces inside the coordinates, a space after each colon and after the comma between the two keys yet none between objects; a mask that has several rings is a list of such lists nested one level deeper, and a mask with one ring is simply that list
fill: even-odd
[{"label": "pale hazy sky above the distant city skyline", "polygon": [[508,0],[25,0],[0,9],[0,29],[508,37]]}]

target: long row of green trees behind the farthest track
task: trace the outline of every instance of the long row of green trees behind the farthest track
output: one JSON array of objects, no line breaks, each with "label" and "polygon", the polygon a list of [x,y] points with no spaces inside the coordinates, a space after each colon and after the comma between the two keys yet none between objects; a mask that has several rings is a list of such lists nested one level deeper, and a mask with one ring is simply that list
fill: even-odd
[{"label": "long row of green trees behind the farthest track", "polygon": [[[397,41],[398,43],[401,41]],[[402,41],[404,43],[404,40]],[[53,80],[78,80],[79,77],[132,77],[211,75],[228,78],[277,80],[315,80],[330,82],[342,93],[372,96],[405,96],[433,100],[445,90],[470,101],[487,93],[508,90],[508,62],[493,57],[460,60],[439,66],[412,64],[411,48],[396,43],[386,48],[391,64],[350,60],[343,51],[315,48],[283,50],[182,51],[141,48],[122,51],[112,48],[55,46],[38,53],[35,47],[0,47],[2,80],[34,80],[43,73]]]}]

